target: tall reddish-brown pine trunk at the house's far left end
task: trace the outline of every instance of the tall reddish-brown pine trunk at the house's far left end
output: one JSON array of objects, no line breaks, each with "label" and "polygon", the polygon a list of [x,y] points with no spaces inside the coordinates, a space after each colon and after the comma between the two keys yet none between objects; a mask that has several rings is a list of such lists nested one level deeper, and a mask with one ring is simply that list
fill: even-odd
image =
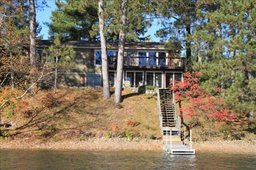
[{"label": "tall reddish-brown pine trunk at the house's far left end", "polygon": [[[29,0],[29,23],[30,23],[30,79],[31,83],[35,83],[35,71],[36,71],[36,49],[35,49],[35,0]],[[32,85],[31,94],[35,94],[36,85]]]}]

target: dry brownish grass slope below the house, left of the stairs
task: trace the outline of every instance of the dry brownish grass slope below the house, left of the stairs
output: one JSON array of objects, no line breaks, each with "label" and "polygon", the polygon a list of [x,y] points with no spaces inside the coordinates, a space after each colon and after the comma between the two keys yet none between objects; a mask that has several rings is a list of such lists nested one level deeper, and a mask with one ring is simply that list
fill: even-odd
[{"label": "dry brownish grass slope below the house, left of the stairs", "polygon": [[[105,136],[112,127],[119,133],[137,133],[142,137],[160,137],[157,96],[123,91],[123,107],[102,98],[102,91],[61,89],[51,98],[51,91],[26,96],[15,106],[17,129],[9,129],[13,138],[78,139],[81,136]],[[137,122],[137,126],[127,124]],[[113,128],[112,128],[113,129]],[[8,130],[8,129],[6,129]]]}]

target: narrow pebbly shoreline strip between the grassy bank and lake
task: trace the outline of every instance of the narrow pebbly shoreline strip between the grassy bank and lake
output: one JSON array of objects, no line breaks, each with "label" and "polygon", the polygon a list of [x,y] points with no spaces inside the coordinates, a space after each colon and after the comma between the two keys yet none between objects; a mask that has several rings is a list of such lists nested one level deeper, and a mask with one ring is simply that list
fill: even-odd
[{"label": "narrow pebbly shoreline strip between the grassy bank and lake", "polygon": [[[114,150],[162,150],[162,140],[128,138],[89,138],[79,140],[31,140],[2,139],[1,149],[114,149]],[[256,142],[244,141],[211,141],[195,142],[192,148],[196,151],[250,152],[256,153]]]}]

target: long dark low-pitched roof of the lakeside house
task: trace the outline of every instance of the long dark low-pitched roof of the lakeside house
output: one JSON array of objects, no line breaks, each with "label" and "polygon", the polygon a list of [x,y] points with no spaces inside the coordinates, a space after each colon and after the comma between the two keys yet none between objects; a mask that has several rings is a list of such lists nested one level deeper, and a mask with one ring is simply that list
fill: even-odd
[{"label": "long dark low-pitched roof of the lakeside house", "polygon": [[[53,45],[53,40],[37,40],[38,47],[49,47]],[[118,42],[107,42],[113,49],[118,48]],[[73,48],[100,48],[99,41],[61,41],[61,45],[72,45]],[[182,49],[180,44],[177,48]],[[161,42],[125,42],[125,49],[159,49],[165,50]]]}]

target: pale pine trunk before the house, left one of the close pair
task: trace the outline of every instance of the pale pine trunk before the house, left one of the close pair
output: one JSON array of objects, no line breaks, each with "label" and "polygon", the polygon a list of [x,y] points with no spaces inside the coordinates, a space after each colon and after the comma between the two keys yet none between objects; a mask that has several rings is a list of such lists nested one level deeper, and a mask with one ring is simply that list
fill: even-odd
[{"label": "pale pine trunk before the house, left one of the close pair", "polygon": [[110,98],[110,89],[109,89],[109,75],[108,75],[108,57],[107,57],[107,45],[106,37],[104,34],[104,6],[103,0],[99,0],[99,34],[101,41],[101,50],[102,50],[102,79],[103,79],[103,98]]}]

